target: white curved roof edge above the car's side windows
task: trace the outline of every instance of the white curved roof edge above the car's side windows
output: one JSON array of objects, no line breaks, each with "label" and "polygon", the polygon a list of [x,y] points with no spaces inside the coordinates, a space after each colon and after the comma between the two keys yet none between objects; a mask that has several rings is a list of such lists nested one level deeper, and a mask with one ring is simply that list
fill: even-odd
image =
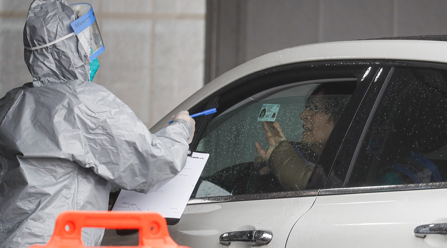
[{"label": "white curved roof edge above the car's side windows", "polygon": [[177,112],[190,109],[215,91],[257,71],[299,62],[340,60],[407,60],[447,63],[447,35],[389,37],[300,45],[254,58],[207,83],[164,116],[150,130],[156,132]]}]

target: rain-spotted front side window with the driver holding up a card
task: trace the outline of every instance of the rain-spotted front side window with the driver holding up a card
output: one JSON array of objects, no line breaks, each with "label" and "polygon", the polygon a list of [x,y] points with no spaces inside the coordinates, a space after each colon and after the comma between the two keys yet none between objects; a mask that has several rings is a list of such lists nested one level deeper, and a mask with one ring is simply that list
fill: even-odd
[{"label": "rain-spotted front side window with the driver holding up a card", "polygon": [[[311,175],[356,82],[270,89],[211,120],[196,149],[210,157],[192,197],[303,190],[309,183],[322,186],[324,182],[317,181],[325,178]],[[328,84],[337,90],[347,87],[348,94],[311,95]],[[272,144],[267,138],[278,140]]]}]

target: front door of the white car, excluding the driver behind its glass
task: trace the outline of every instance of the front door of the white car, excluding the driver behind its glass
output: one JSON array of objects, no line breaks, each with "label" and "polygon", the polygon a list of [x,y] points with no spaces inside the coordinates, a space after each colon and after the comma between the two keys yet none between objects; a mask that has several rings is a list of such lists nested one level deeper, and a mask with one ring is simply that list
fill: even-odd
[{"label": "front door of the white car, excluding the driver behind its glass", "polygon": [[329,172],[330,161],[378,73],[377,62],[371,65],[337,61],[272,68],[240,79],[217,92],[213,100],[199,103],[202,107],[194,107],[216,107],[218,113],[197,121],[198,138],[191,149],[210,153],[210,158],[181,219],[169,226],[172,238],[190,247],[285,247],[292,227],[312,209],[323,185],[290,191],[275,183],[274,176],[260,176],[259,167],[254,166],[258,156],[254,143],[268,147],[258,120],[262,106],[280,105],[276,121],[289,141],[300,141],[303,121],[299,116],[309,92],[321,83],[357,84],[354,95],[347,96],[343,120],[335,124],[329,136],[332,145],[325,148],[324,158],[320,157]]}]

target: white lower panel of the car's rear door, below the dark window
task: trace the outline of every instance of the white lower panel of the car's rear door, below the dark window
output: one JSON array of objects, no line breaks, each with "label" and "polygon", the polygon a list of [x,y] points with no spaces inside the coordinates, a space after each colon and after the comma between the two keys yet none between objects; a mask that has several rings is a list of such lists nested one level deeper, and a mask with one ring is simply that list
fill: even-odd
[{"label": "white lower panel of the car's rear door, below the dark window", "polygon": [[[334,190],[333,190],[334,191]],[[293,227],[286,248],[445,247],[447,236],[414,228],[446,223],[447,189],[318,196]]]}]

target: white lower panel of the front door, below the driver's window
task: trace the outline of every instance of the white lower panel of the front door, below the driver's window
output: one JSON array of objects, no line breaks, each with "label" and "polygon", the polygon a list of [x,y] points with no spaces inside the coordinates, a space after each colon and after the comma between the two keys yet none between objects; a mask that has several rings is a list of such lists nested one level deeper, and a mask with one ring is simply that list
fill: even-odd
[{"label": "white lower panel of the front door, below the driver's window", "polygon": [[[180,222],[168,226],[180,245],[222,248],[219,236],[230,231],[262,230],[273,235],[265,248],[284,247],[287,236],[301,215],[312,207],[316,196],[238,202],[189,204]],[[243,218],[241,218],[243,216]],[[251,247],[234,242],[230,247]]]}]

